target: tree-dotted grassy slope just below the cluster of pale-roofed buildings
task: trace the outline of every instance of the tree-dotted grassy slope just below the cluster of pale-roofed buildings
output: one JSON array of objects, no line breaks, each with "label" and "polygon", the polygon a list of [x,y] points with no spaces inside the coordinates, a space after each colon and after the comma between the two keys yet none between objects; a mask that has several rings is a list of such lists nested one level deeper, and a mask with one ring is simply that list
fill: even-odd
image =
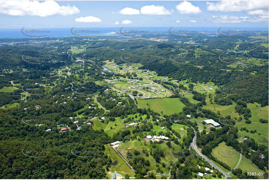
[{"label": "tree-dotted grassy slope just below the cluster of pale-roofed buildings", "polygon": [[[133,153],[134,150],[137,150],[137,151],[143,151],[143,150],[150,151],[150,149],[152,149],[152,151],[154,151],[154,148],[152,148],[152,144],[146,143],[146,145],[145,145],[144,142],[145,141],[142,138],[140,139],[140,141],[124,142],[121,146],[119,146],[117,148],[117,150],[121,151],[122,154],[124,154],[124,155],[126,155],[126,152],[124,153],[124,151],[131,151],[132,156],[134,156],[134,157],[136,156]],[[169,169],[170,169],[169,163],[170,163],[170,161],[174,160],[176,157],[172,156],[169,153],[170,148],[166,145],[166,143],[156,144],[156,146],[157,147],[155,149],[159,148],[159,149],[164,150],[164,156],[161,157],[160,163],[156,163],[155,159],[153,158],[152,155],[150,155],[150,153],[148,153],[149,156],[145,156],[145,153],[140,153],[137,156],[143,156],[143,158],[145,158],[145,160],[149,160],[149,162],[150,162],[149,169],[150,169],[151,172],[157,172],[156,164],[159,164],[159,166],[160,166],[161,170],[163,171],[163,173],[169,174]],[[175,147],[175,151],[180,151],[181,150],[181,147],[177,146],[173,142],[171,143],[171,146]],[[129,157],[126,157],[126,156],[124,156],[124,158],[126,158],[127,161],[132,159],[132,158],[129,158]],[[161,163],[164,163],[165,167],[162,167]]]}]

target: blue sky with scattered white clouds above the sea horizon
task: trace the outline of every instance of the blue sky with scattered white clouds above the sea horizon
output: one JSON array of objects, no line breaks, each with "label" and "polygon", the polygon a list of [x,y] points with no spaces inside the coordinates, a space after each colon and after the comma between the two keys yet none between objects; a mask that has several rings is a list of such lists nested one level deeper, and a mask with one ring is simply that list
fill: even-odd
[{"label": "blue sky with scattered white clouds above the sea horizon", "polygon": [[268,1],[1,1],[0,28],[268,27]]}]

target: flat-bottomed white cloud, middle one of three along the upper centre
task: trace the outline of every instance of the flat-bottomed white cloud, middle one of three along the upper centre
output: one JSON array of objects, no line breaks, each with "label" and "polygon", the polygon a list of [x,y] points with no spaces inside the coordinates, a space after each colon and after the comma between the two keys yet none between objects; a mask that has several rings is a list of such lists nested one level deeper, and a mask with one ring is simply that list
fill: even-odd
[{"label": "flat-bottomed white cloud, middle one of three along the upper centre", "polygon": [[167,10],[164,6],[143,6],[140,10],[142,14],[149,14],[149,15],[168,15],[172,14],[173,11]]}]

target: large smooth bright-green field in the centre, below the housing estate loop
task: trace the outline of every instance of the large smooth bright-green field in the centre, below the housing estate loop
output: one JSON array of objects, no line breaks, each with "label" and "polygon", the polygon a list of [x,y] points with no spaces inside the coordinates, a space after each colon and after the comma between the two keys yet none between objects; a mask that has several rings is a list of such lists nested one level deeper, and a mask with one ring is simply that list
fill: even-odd
[{"label": "large smooth bright-green field in the centre, below the housing estate loop", "polygon": [[[161,114],[170,115],[178,112],[182,112],[185,106],[179,98],[158,98],[158,99],[143,99],[137,100],[140,108],[148,108]],[[149,106],[147,105],[149,104]],[[162,114],[161,114],[162,115]]]}]

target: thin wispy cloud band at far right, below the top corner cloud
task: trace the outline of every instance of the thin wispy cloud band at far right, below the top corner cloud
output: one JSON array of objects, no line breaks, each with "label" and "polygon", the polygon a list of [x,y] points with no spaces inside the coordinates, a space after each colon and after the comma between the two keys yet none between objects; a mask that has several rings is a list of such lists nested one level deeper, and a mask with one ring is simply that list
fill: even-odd
[{"label": "thin wispy cloud band at far right, below the top corner cloud", "polygon": [[237,17],[234,15],[220,15],[218,17],[213,15],[211,18],[207,18],[207,20],[210,20],[214,23],[268,22],[268,16],[259,16],[251,18],[247,16]]}]

